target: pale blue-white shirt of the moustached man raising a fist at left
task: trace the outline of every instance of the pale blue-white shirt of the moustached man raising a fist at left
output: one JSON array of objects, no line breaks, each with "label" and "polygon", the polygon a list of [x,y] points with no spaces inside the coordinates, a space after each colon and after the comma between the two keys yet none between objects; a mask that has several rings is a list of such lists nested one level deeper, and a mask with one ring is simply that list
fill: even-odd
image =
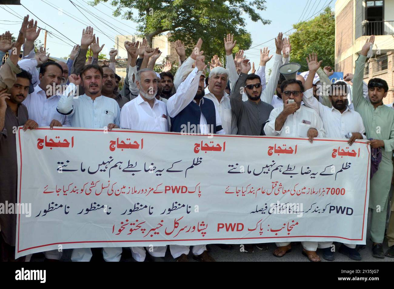
[{"label": "pale blue-white shirt of the moustached man raising a fist at left", "polygon": [[115,99],[100,95],[93,100],[86,94],[74,99],[69,93],[75,89],[74,84],[69,84],[57,108],[58,112],[69,117],[72,127],[98,129],[110,123],[119,126],[120,109]]}]

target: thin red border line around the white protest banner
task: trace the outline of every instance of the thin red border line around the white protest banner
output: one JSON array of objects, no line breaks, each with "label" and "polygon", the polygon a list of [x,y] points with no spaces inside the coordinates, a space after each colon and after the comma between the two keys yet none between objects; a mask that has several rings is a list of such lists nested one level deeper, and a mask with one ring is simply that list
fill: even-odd
[{"label": "thin red border line around the white protest banner", "polygon": [[[19,151],[20,151],[20,180],[19,180],[19,203],[21,202],[21,190],[22,190],[22,146],[20,145],[20,130],[22,127],[18,129],[18,137],[19,137]],[[102,132],[102,129],[68,129],[68,128],[37,128],[37,130],[51,130],[51,131],[97,131]],[[182,134],[180,132],[156,132],[156,131],[119,131],[117,129],[113,129],[113,132],[138,132],[138,133],[147,133],[147,134],[175,134],[175,135],[192,135],[197,136],[199,134]],[[202,135],[206,136],[206,134]],[[236,135],[226,135],[226,134],[215,134],[215,137],[237,137],[237,138],[275,138],[275,139],[283,139],[283,140],[305,140],[309,141],[307,138],[283,138],[283,137],[275,137],[275,136],[236,136]],[[331,139],[314,139],[314,141],[322,141],[322,142],[348,142],[348,140],[331,140]],[[364,142],[355,141],[355,143],[365,144]],[[368,149],[368,167],[371,159],[371,151],[367,145]],[[367,168],[368,168],[367,167]],[[364,216],[362,218],[362,229],[361,229],[361,239],[349,239],[345,237],[337,237],[337,236],[288,236],[288,237],[251,237],[251,238],[218,238],[218,239],[177,239],[177,240],[151,240],[151,242],[177,242],[177,241],[220,241],[220,240],[253,240],[253,239],[276,239],[276,238],[300,238],[300,237],[316,237],[316,238],[338,238],[344,239],[349,241],[362,241],[362,236],[364,234],[364,224],[365,224],[365,209],[366,209],[366,201],[367,201],[367,192],[368,192],[368,179],[369,179],[369,170],[367,169],[367,177],[366,177],[366,190],[365,190],[365,198],[364,198]],[[51,245],[58,245],[58,244],[81,244],[81,243],[127,243],[127,242],[147,242],[145,240],[125,240],[125,241],[79,241],[79,242],[58,242],[58,243],[51,243],[45,244],[40,246],[34,246],[31,248],[26,248],[19,250],[19,235],[20,235],[20,214],[19,214],[19,222],[18,222],[18,253],[31,250],[35,248],[41,248]]]}]

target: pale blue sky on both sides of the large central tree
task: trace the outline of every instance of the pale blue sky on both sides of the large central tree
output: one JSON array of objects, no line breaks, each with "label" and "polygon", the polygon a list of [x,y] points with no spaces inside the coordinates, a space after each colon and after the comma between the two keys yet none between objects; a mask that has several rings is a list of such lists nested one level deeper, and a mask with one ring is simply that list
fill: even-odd
[{"label": "pale blue sky on both sides of the large central tree", "polygon": [[[82,29],[86,27],[86,24],[89,23],[94,28],[99,28],[103,33],[99,32],[98,29],[95,29],[96,36],[99,36],[100,45],[105,44],[103,51],[108,54],[109,50],[114,47],[114,36],[117,34],[136,34],[135,27],[136,23],[132,21],[126,21],[121,19],[121,17],[117,17],[116,20],[112,16],[113,7],[107,2],[105,4],[100,3],[96,8],[87,6],[89,0],[71,0],[76,4],[76,6],[89,7],[89,11],[99,17],[102,20],[108,22],[108,24],[115,28],[112,30],[110,27],[105,26],[97,19],[93,18],[92,15],[89,15],[87,12],[83,11],[84,15],[81,14],[78,9],[81,10],[80,7],[78,9],[72,5],[72,3],[68,0],[21,0],[21,4],[23,4],[27,9],[29,9],[32,13],[34,13],[38,18],[42,19],[46,22],[43,23],[37,17],[32,15],[28,10],[26,10],[22,6],[17,5],[0,5],[0,11],[2,12],[2,20],[0,20],[0,29],[3,31],[10,30],[11,33],[17,35],[17,32],[20,28],[21,20],[18,15],[22,17],[26,14],[30,15],[30,18],[38,21],[38,26],[47,29],[50,32],[53,32],[54,35],[57,35],[59,38],[56,38],[54,35],[47,35],[47,48],[48,52],[51,53],[52,56],[55,57],[64,57],[70,54],[71,45],[74,43],[80,43],[80,38],[82,34]],[[331,3],[330,3],[331,1]],[[51,7],[52,5],[53,7]],[[246,56],[252,61],[255,62],[256,69],[260,59],[260,48],[264,46],[268,46],[270,48],[270,53],[275,53],[275,42],[271,40],[273,37],[276,37],[278,32],[286,32],[292,28],[292,24],[296,23],[299,19],[306,20],[311,17],[313,14],[318,13],[325,6],[331,6],[334,10],[335,0],[299,0],[299,1],[290,1],[290,0],[268,0],[266,3],[267,9],[266,11],[262,11],[260,14],[264,19],[271,20],[271,24],[262,25],[261,22],[252,22],[250,19],[246,19],[247,22],[247,31],[249,31],[252,35],[252,47],[257,46],[255,48],[249,49],[246,51]],[[304,13],[303,13],[304,12]],[[14,15],[12,15],[12,14]],[[110,16],[111,17],[110,17]],[[75,19],[71,18],[74,17]],[[16,21],[16,22],[11,22]],[[53,28],[51,28],[52,26]],[[58,30],[58,32],[56,31]],[[291,34],[292,31],[288,32]],[[65,35],[62,36],[61,34]],[[105,34],[105,35],[104,35]],[[286,35],[288,35],[286,34]],[[67,38],[65,38],[67,37]],[[44,43],[44,33],[41,31],[39,38],[42,43]],[[72,41],[74,43],[72,43]],[[261,43],[265,44],[260,45]],[[108,56],[109,57],[109,56]],[[291,58],[291,56],[290,56]],[[267,69],[272,66],[273,61],[267,63]]]}]

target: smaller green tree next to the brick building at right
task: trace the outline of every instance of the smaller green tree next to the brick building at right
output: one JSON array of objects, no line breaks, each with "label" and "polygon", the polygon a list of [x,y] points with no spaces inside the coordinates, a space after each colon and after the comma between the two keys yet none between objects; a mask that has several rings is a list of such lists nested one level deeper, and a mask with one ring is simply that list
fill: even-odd
[{"label": "smaller green tree next to the brick building at right", "polygon": [[319,60],[323,60],[323,66],[334,67],[335,16],[330,7],[314,19],[294,24],[293,28],[297,31],[290,35],[290,60],[301,65],[300,71],[308,70],[305,58],[312,52],[318,54]]}]

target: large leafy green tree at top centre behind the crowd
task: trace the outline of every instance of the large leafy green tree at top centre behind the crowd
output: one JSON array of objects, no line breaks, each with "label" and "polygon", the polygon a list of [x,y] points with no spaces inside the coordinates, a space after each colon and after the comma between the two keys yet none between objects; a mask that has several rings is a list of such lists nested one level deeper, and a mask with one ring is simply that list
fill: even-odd
[{"label": "large leafy green tree at top centre behind the crowd", "polygon": [[[94,0],[99,4],[100,0]],[[108,0],[101,0],[108,2]],[[149,44],[152,38],[171,32],[169,41],[180,39],[185,43],[186,53],[190,54],[199,37],[204,43],[202,50],[206,59],[214,55],[225,55],[223,37],[227,33],[234,34],[237,46],[248,49],[251,46],[251,36],[245,30],[243,15],[253,22],[263,19],[260,11],[266,10],[266,0],[112,0],[116,6],[114,16],[138,23],[137,30]],[[123,13],[122,9],[129,9]],[[137,11],[136,13],[134,11]],[[122,15],[123,13],[123,15]],[[234,53],[239,49],[234,48]]]}]

